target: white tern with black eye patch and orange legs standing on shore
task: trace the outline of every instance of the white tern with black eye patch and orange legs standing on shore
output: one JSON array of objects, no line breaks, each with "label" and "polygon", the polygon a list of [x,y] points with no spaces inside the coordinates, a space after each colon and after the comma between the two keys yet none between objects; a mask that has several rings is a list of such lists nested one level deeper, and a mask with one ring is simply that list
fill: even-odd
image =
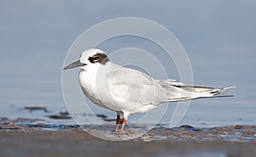
[{"label": "white tern with black eye patch and orange legs standing on shore", "polygon": [[[94,104],[116,112],[114,132],[123,132],[130,115],[148,112],[160,104],[196,98],[232,97],[230,87],[202,87],[183,82],[156,80],[147,74],[114,64],[98,48],[85,50],[78,61],[63,70],[79,68],[79,85]],[[123,115],[121,123],[120,115]],[[122,124],[119,130],[119,124]]]}]

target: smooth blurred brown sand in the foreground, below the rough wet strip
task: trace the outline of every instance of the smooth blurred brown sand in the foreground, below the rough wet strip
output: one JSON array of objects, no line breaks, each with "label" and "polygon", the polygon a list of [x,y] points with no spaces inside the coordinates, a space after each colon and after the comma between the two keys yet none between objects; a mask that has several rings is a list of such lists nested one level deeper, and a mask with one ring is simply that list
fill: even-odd
[{"label": "smooth blurred brown sand in the foreground, below the rough wet strip", "polygon": [[74,131],[1,131],[0,156],[219,156],[256,154],[256,142],[109,142]]}]

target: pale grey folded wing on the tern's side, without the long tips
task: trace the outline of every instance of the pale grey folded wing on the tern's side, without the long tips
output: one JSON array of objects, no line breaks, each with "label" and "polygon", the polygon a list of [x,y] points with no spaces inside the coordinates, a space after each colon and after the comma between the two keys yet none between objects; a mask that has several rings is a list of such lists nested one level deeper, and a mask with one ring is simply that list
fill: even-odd
[{"label": "pale grey folded wing on the tern's side, without the long tips", "polygon": [[[120,102],[153,104],[160,87],[154,79],[143,72],[121,66],[113,66],[109,87],[111,95]],[[161,98],[162,99],[162,98]]]}]

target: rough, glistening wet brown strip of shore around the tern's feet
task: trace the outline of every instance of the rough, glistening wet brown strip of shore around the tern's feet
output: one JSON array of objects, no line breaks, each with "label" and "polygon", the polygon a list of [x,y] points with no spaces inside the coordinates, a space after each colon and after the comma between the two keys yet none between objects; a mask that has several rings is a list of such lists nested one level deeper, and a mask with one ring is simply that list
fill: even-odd
[{"label": "rough, glistening wet brown strip of shore around the tern's feet", "polygon": [[[63,121],[63,120],[62,120]],[[67,131],[67,132],[87,132],[94,137],[110,141],[237,141],[249,142],[256,141],[256,126],[219,126],[207,128],[195,128],[193,126],[178,126],[174,128],[165,125],[136,125],[129,124],[124,132],[113,132],[113,125],[63,125],[50,124],[44,119],[0,118],[0,131]],[[60,122],[60,121],[59,121]],[[152,129],[150,129],[153,127]]]}]

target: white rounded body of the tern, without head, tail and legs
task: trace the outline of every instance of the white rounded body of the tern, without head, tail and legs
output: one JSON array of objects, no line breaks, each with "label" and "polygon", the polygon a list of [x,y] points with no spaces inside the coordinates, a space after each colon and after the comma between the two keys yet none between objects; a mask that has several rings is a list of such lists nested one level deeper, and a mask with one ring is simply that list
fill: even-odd
[{"label": "white rounded body of the tern, without head, tail and legs", "polygon": [[159,87],[150,77],[117,64],[81,70],[79,81],[84,94],[106,109],[136,114],[160,104],[156,97]]}]

